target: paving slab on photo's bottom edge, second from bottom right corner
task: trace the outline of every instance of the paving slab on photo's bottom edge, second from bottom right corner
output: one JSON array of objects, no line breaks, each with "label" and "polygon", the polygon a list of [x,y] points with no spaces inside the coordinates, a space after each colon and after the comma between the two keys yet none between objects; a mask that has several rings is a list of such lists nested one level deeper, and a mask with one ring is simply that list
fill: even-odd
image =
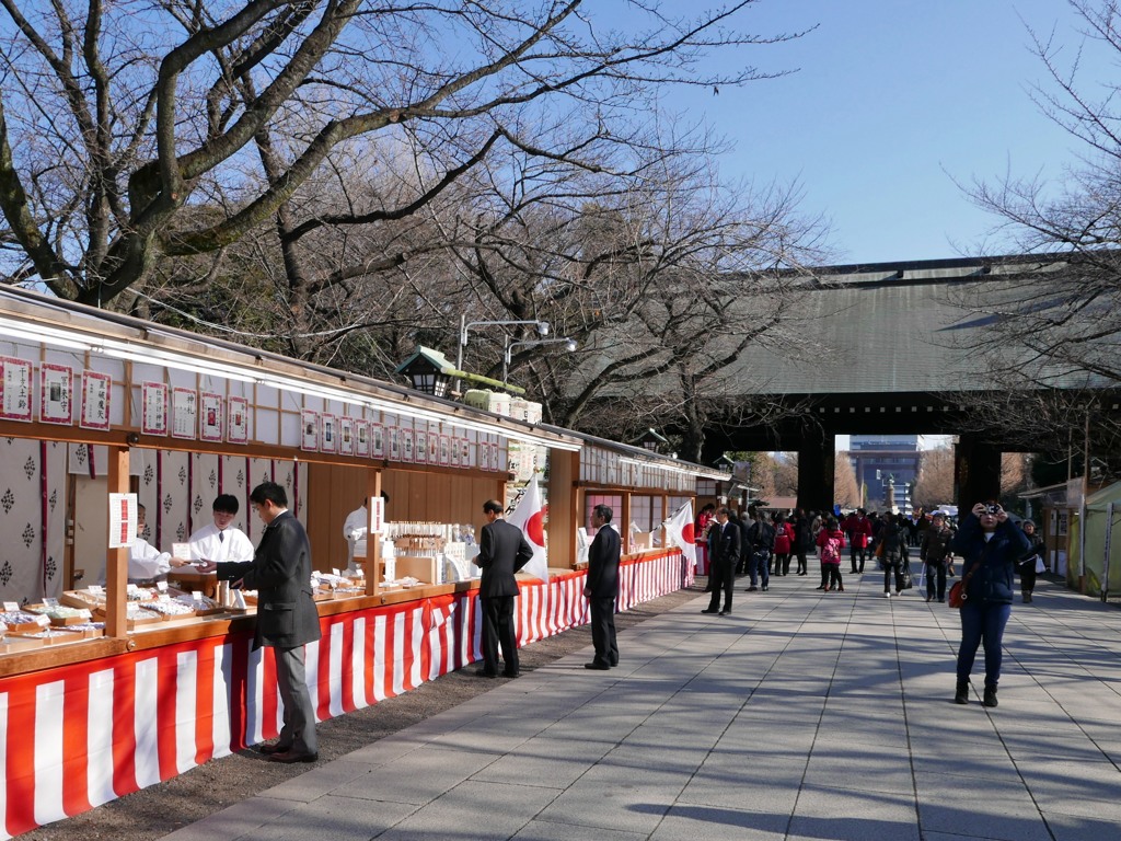
[{"label": "paving slab on photo's bottom edge, second from bottom right corner", "polygon": [[1039,811],[1025,792],[1010,796],[979,785],[953,789],[934,800],[919,795],[919,825],[924,832],[963,833],[998,841],[1051,841]]}]

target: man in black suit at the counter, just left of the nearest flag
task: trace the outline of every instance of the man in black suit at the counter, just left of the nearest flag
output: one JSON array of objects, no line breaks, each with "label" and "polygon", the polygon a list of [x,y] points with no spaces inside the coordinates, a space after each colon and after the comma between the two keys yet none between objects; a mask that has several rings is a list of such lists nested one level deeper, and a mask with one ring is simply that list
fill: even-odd
[{"label": "man in black suit at the counter, just left of the nearest flag", "polygon": [[534,556],[526,536],[517,526],[502,519],[502,503],[493,499],[483,503],[483,526],[479,554],[474,564],[483,571],[479,582],[479,600],[483,611],[483,666],[475,672],[482,677],[498,676],[498,648],[502,646],[506,677],[518,676],[518,640],[513,636],[513,598],[518,581],[513,573]]}]

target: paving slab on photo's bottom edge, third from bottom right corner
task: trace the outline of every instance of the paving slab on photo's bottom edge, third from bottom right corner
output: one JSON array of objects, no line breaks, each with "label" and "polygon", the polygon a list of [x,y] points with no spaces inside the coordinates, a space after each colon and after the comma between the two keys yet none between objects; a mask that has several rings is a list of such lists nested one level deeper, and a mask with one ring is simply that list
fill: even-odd
[{"label": "paving slab on photo's bottom edge, third from bottom right corner", "polygon": [[919,838],[912,795],[816,787],[805,787],[799,793],[787,834],[789,841],[919,841]]}]

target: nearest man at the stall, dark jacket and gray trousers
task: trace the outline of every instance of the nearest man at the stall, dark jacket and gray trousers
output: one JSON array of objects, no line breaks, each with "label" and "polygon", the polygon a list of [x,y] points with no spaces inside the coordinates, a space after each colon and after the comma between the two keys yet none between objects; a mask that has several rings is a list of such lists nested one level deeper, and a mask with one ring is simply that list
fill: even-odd
[{"label": "nearest man at the stall, dark jacket and gray trousers", "polygon": [[314,763],[319,758],[315,708],[304,672],[304,645],[319,638],[319,613],[312,599],[312,547],[279,484],[258,484],[249,501],[265,524],[253,560],[211,566],[220,581],[257,591],[253,649],[262,645],[275,649],[284,728],[280,738],[260,751],[274,763]]}]

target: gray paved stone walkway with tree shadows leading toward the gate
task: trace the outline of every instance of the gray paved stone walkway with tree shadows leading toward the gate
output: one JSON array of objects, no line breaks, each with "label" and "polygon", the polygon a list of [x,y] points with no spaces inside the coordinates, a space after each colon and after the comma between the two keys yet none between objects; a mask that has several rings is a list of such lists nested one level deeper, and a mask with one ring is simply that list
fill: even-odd
[{"label": "gray paved stone walkway with tree shadows leading toward the gate", "polygon": [[698,598],[168,838],[1121,838],[1121,611],[1040,582],[958,706],[956,611],[881,581]]}]

